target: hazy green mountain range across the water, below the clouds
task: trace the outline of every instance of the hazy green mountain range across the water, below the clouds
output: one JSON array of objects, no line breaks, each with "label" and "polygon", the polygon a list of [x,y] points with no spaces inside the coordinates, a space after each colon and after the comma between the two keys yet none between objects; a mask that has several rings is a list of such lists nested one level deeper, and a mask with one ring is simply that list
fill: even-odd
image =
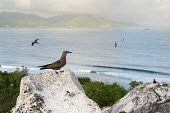
[{"label": "hazy green mountain range across the water, below the clouds", "polygon": [[[135,24],[130,24],[135,25]],[[91,15],[63,15],[43,18],[35,14],[1,12],[0,27],[120,27],[126,23],[113,22]]]}]

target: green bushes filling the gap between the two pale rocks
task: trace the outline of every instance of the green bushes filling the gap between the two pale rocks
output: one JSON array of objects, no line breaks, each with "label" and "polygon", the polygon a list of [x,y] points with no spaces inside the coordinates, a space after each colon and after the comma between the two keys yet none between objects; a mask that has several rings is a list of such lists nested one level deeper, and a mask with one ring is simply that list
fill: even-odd
[{"label": "green bushes filling the gap between the two pale rocks", "polygon": [[127,94],[127,90],[118,83],[104,84],[103,82],[92,82],[88,77],[78,77],[86,95],[95,101],[100,107],[111,106],[117,100]]}]

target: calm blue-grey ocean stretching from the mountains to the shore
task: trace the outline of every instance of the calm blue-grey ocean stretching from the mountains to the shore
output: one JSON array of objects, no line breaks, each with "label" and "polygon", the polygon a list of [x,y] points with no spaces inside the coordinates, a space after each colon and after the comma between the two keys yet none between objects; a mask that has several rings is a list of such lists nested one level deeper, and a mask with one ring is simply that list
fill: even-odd
[{"label": "calm blue-grey ocean stretching from the mountains to the shore", "polygon": [[[39,39],[40,44],[31,46]],[[124,41],[123,41],[124,39]],[[169,29],[144,28],[0,28],[0,71],[37,66],[58,60],[62,51],[77,76],[128,88],[131,81],[170,82]],[[115,42],[117,47],[115,48]]]}]

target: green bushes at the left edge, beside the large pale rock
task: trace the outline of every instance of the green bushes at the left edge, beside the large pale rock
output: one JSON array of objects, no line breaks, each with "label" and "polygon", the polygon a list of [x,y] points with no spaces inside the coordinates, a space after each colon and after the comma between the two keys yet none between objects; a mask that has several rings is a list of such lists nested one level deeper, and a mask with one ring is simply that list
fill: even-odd
[{"label": "green bushes at the left edge, beside the large pale rock", "polygon": [[24,66],[12,73],[0,71],[0,113],[6,113],[16,104],[21,78],[27,75],[28,69]]}]

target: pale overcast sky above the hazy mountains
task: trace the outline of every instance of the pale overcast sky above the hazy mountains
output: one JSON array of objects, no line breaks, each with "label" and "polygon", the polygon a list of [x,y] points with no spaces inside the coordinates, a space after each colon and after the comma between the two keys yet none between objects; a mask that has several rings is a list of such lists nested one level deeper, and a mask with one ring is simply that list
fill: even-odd
[{"label": "pale overcast sky above the hazy mountains", "polygon": [[114,21],[170,26],[170,0],[0,0],[0,11],[43,16],[92,14]]}]

